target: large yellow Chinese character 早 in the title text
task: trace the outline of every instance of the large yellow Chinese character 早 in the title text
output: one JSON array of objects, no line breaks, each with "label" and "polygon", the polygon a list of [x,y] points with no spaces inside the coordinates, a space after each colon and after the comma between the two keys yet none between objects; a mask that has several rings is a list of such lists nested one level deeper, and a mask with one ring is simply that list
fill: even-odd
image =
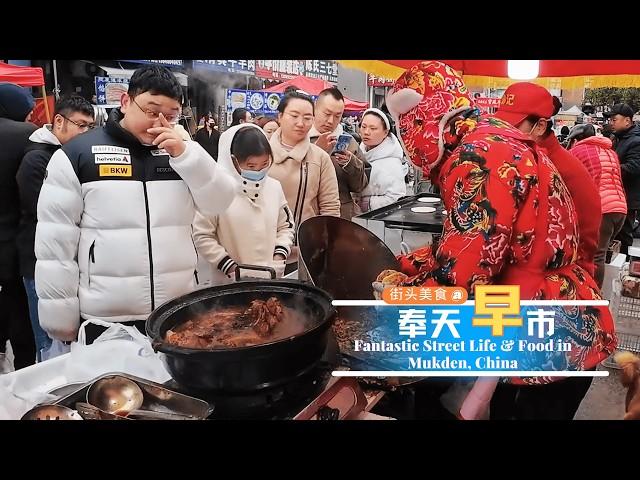
[{"label": "large yellow Chinese character \u65e9 in the title text", "polygon": [[[520,285],[478,285],[476,286],[476,315],[490,315],[490,318],[472,318],[474,327],[491,327],[491,335],[501,337],[504,327],[521,327]],[[509,315],[505,318],[505,315]]]}]

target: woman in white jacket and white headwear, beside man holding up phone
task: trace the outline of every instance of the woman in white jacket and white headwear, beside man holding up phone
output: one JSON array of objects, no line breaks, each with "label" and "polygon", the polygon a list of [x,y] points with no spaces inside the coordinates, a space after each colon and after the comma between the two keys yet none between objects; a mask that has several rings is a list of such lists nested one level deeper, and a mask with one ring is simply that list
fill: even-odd
[{"label": "woman in white jacket and white headwear, beside man holding up phone", "polygon": [[360,193],[360,209],[375,210],[396,202],[407,194],[404,177],[407,167],[402,163],[403,150],[391,133],[391,123],[377,108],[365,110],[360,124],[360,150],[371,164],[369,184]]}]

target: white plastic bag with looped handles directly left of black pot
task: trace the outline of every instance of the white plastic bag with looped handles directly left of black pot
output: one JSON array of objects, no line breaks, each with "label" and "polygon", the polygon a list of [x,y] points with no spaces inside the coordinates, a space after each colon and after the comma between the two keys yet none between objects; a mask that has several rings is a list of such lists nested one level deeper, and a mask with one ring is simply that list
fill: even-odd
[{"label": "white plastic bag with looped handles directly left of black pot", "polygon": [[[107,327],[91,345],[86,344],[85,325]],[[65,374],[69,382],[85,382],[105,373],[122,372],[164,383],[171,379],[149,339],[137,328],[92,319],[80,325],[78,341],[71,344]]]}]

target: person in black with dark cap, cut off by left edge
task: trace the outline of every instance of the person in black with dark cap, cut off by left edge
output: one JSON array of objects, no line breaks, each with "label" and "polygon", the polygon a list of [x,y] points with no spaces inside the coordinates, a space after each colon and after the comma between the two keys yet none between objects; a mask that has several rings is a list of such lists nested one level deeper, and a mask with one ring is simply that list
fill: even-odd
[{"label": "person in black with dark cap, cut off by left edge", "polygon": [[4,356],[8,338],[16,369],[33,364],[36,358],[16,249],[20,220],[16,172],[29,135],[36,130],[34,124],[28,123],[34,103],[24,88],[0,84],[0,331],[4,332],[4,335],[0,334],[0,356]]}]

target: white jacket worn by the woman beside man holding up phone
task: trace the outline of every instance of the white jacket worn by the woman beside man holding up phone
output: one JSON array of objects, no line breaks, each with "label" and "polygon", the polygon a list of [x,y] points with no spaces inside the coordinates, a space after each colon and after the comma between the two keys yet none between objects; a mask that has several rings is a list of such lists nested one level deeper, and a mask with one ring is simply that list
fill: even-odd
[{"label": "white jacket worn by the woman beside man holding up phone", "polygon": [[360,194],[363,210],[385,207],[407,194],[407,166],[402,163],[403,150],[395,135],[390,134],[368,151],[361,143],[360,150],[371,164],[369,184]]}]

